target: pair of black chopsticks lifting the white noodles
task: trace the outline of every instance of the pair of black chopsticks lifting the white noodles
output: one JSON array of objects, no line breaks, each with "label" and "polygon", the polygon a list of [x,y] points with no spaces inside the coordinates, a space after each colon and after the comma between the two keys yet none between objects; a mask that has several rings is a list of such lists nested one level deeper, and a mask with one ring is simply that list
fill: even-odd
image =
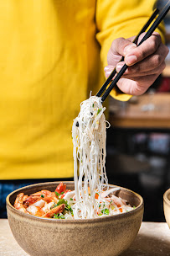
[{"label": "pair of black chopsticks lifting the white noodles", "polygon": [[[152,23],[153,19],[155,19],[155,17],[157,16],[157,13],[159,13],[159,9],[156,9],[153,13],[152,16],[150,17],[150,19],[148,19],[147,23],[143,26],[143,28],[141,29],[141,31],[138,33],[137,37],[135,38],[135,40],[133,41],[133,43],[135,43],[137,46],[141,45],[143,41],[147,40],[147,38],[149,38],[152,33],[154,32],[155,29],[157,29],[157,26],[161,23],[162,19],[165,17],[165,15],[167,14],[167,12],[170,9],[170,1],[167,2],[167,4],[165,5],[165,7],[162,9],[162,12],[158,15],[157,19],[154,21],[154,23],[152,24],[151,28],[148,29],[146,35],[142,38],[142,40],[140,41],[140,43],[137,45],[137,40],[139,38],[139,36],[146,31],[146,29],[149,27],[149,25]],[[121,57],[121,61],[124,60],[124,57]],[[116,75],[116,68],[111,72],[111,75],[107,78],[106,82],[102,85],[102,87],[100,88],[99,92],[96,94],[97,97],[100,97],[102,95],[102,93],[104,93],[104,91],[106,90],[106,92],[101,96],[101,101],[105,101],[106,97],[109,95],[109,93],[111,93],[111,90],[116,86],[116,83],[119,81],[119,79],[121,78],[121,76],[124,74],[124,72],[127,69],[127,65],[125,64],[120,72],[117,73]],[[114,77],[115,79],[111,82],[111,79]],[[111,83],[111,84],[110,84]],[[107,86],[110,84],[110,86],[107,88]],[[107,88],[107,89],[106,89]]]}]

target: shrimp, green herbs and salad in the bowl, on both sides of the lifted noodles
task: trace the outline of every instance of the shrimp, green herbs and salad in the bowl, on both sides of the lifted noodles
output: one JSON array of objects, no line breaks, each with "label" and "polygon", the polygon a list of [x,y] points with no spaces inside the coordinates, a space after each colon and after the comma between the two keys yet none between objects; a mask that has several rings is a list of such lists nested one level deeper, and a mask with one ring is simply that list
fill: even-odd
[{"label": "shrimp, green herbs and salad in the bowl, on both sides of the lifted noodles", "polygon": [[[88,190],[90,200],[90,188]],[[99,193],[95,191],[95,204],[98,205],[98,211],[95,212],[96,217],[112,216],[133,210],[126,200],[113,195],[118,190],[120,188],[102,191],[100,197]],[[62,182],[54,192],[44,189],[32,195],[18,194],[14,207],[24,213],[46,218],[72,220],[79,219],[81,216],[81,210],[77,210],[75,190],[66,189],[66,184]]]}]

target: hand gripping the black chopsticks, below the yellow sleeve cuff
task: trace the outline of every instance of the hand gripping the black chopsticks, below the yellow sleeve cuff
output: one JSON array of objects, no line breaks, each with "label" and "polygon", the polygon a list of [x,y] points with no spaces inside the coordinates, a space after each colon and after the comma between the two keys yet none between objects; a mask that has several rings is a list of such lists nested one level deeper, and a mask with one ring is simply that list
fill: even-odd
[{"label": "hand gripping the black chopsticks, below the yellow sleeve cuff", "polygon": [[[143,33],[139,41],[145,35]],[[166,45],[162,44],[161,36],[154,32],[142,45],[133,44],[135,36],[118,38],[112,42],[107,55],[108,66],[105,67],[106,77],[109,77],[116,67],[116,72],[126,63],[130,66],[118,81],[117,86],[123,93],[141,95],[147,91],[165,68],[165,57],[168,53]],[[124,61],[118,63],[124,56]]]}]

